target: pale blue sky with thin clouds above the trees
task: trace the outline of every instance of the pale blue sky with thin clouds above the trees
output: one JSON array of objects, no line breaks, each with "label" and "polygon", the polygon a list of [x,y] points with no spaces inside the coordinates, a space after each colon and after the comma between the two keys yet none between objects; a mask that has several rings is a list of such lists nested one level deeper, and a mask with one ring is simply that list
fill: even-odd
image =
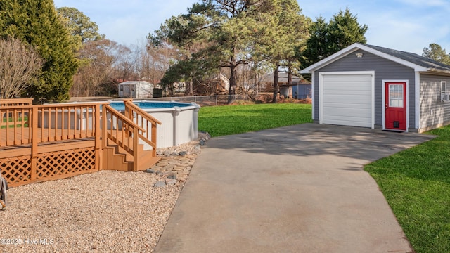
[{"label": "pale blue sky with thin clouds above the trees", "polygon": [[[349,7],[360,24],[368,25],[367,43],[421,54],[437,43],[450,53],[450,0],[297,0],[302,13],[328,22]],[[200,0],[54,0],[55,6],[75,7],[108,39],[120,44],[145,44],[172,15],[187,13]]]}]

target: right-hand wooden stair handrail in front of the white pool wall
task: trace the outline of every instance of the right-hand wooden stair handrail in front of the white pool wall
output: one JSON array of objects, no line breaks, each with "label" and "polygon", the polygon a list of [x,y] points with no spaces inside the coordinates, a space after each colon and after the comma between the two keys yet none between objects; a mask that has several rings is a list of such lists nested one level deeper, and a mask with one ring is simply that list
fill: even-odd
[{"label": "right-hand wooden stair handrail in front of the white pool wall", "polygon": [[[152,115],[148,114],[148,112],[139,108],[139,106],[137,106],[136,104],[133,103],[132,99],[124,99],[124,105],[125,105],[125,116],[127,116],[129,119],[133,120],[133,122],[134,122],[134,119],[133,119],[134,113],[136,113],[136,115],[141,116],[141,119],[146,119],[147,122],[150,122],[151,131],[147,131],[145,136],[143,134],[139,134],[139,138],[141,138],[141,140],[145,141],[146,143],[148,143],[148,145],[150,145],[152,147],[153,156],[156,156],[156,148],[157,148],[157,126],[156,126],[156,124],[162,124],[162,122],[160,122],[158,119],[156,119]],[[141,128],[148,129],[148,125],[146,125],[146,127],[143,126],[143,120],[141,120],[141,124],[139,124],[138,117],[136,117],[136,122],[134,122],[134,123],[137,124],[138,126],[141,126]],[[150,134],[150,138],[148,136],[149,134]]]}]

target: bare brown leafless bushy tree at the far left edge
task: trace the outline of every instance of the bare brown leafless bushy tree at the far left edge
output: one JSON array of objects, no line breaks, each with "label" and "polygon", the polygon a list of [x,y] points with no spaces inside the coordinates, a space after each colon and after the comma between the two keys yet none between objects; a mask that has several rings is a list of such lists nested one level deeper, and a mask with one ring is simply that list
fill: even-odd
[{"label": "bare brown leafless bushy tree at the far left edge", "polygon": [[20,96],[37,77],[43,60],[18,39],[0,39],[0,98]]}]

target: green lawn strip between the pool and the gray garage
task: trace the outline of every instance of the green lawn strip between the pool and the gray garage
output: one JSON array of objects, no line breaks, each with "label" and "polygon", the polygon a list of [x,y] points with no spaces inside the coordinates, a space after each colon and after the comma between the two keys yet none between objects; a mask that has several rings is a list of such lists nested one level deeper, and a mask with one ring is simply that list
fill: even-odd
[{"label": "green lawn strip between the pool and the gray garage", "polygon": [[210,106],[200,109],[198,130],[216,137],[307,122],[312,120],[311,105],[306,104]]}]

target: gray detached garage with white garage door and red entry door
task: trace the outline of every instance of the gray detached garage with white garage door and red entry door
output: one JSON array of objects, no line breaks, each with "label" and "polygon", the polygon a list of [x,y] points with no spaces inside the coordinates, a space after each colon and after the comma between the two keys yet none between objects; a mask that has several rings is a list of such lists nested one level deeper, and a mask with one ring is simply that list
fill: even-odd
[{"label": "gray detached garage with white garage door and red entry door", "polygon": [[301,71],[319,124],[423,132],[450,124],[450,66],[415,53],[352,44]]}]

